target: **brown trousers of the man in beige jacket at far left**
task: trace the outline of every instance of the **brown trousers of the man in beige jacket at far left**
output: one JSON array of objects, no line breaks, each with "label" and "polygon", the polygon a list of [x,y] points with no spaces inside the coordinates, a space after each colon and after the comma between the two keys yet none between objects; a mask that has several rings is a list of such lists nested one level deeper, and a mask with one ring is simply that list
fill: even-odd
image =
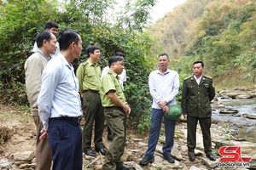
[{"label": "brown trousers of the man in beige jacket at far left", "polygon": [[48,139],[39,139],[40,131],[43,124],[39,116],[33,116],[34,123],[37,126],[37,146],[36,146],[36,162],[38,170],[49,170],[51,166],[51,149]]}]

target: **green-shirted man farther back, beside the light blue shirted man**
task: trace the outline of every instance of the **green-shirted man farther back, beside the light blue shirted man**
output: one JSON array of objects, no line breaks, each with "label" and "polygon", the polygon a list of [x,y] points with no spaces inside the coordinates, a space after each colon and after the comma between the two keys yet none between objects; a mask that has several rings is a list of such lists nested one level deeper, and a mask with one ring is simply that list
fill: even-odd
[{"label": "green-shirted man farther back, beside the light blue shirted man", "polygon": [[84,129],[83,129],[83,150],[87,156],[96,156],[91,149],[92,130],[94,128],[94,143],[96,152],[105,156],[108,150],[102,144],[104,130],[104,111],[99,94],[101,88],[101,67],[96,63],[101,58],[101,51],[96,46],[89,46],[85,49],[87,59],[79,65],[76,76],[79,79],[79,93],[83,97],[84,107]]}]

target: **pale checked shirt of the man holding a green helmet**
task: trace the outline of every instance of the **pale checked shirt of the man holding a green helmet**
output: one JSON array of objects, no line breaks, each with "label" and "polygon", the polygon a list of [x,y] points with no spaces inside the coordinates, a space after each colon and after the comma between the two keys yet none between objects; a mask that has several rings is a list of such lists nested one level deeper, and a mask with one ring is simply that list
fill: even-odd
[{"label": "pale checked shirt of the man holding a green helmet", "polygon": [[177,71],[167,69],[164,74],[159,70],[152,71],[148,77],[149,92],[153,98],[152,108],[160,109],[158,102],[166,100],[167,105],[176,104],[176,95],[179,88]]}]

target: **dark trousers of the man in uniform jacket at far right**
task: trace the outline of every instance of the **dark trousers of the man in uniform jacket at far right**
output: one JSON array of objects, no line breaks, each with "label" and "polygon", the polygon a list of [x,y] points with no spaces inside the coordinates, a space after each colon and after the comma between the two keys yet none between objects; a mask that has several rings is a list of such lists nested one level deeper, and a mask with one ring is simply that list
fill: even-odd
[{"label": "dark trousers of the man in uniform jacket at far right", "polygon": [[188,127],[187,144],[188,144],[189,155],[195,154],[194,150],[196,147],[197,122],[199,122],[201,127],[205,153],[209,154],[212,152],[212,140],[211,140],[211,132],[210,132],[210,128],[212,124],[211,117],[200,118],[200,117],[194,117],[194,116],[187,116],[187,127]]}]

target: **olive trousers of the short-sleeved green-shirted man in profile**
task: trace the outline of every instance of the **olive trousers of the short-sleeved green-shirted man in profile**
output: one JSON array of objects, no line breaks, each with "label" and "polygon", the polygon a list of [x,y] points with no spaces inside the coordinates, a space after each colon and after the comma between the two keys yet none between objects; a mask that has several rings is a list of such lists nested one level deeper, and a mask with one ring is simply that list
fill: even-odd
[{"label": "olive trousers of the short-sleeved green-shirted man in profile", "polygon": [[120,108],[105,108],[104,114],[112,133],[112,142],[109,144],[108,154],[105,156],[106,163],[103,170],[116,170],[124,162],[120,160],[125,150],[126,138],[126,116],[125,111]]}]

